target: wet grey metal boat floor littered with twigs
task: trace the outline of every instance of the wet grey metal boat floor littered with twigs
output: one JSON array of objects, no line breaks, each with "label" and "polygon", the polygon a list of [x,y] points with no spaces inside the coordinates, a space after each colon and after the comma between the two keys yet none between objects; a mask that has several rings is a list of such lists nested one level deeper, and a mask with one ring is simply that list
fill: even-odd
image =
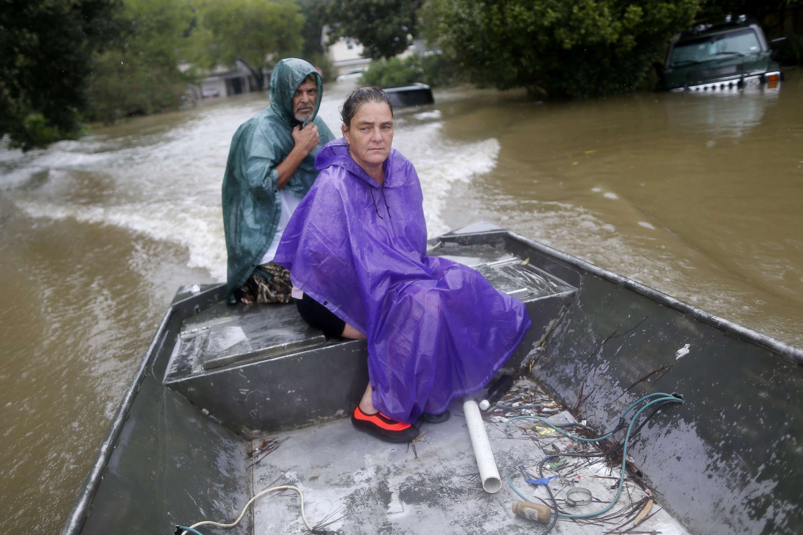
[{"label": "wet grey metal boat floor littered with twigs", "polygon": [[[520,497],[507,485],[507,476],[516,474],[513,483],[530,501],[546,503],[546,490],[526,484],[521,465],[537,478],[544,449],[599,450],[589,443],[574,444],[534,419],[516,420],[508,436],[504,422],[512,415],[547,417],[563,409],[528,379],[516,383],[509,396],[514,395],[523,395],[517,403],[540,403],[541,407],[484,413],[503,482],[495,494],[484,492],[479,482],[461,403],[453,403],[452,417],[445,423],[422,424],[414,444],[385,443],[353,428],[349,419],[253,440],[253,490],[295,485],[304,491],[310,524],[316,529],[322,525],[328,530],[342,529],[345,535],[542,533],[546,525],[512,513],[512,502]],[[556,471],[544,467],[544,476],[559,474],[550,488],[565,513],[592,513],[615,495],[619,468],[609,468],[605,459],[563,457],[557,462]],[[565,496],[573,487],[588,489],[593,502],[569,505]],[[552,533],[687,533],[659,500],[647,520],[633,528],[634,517],[648,499],[628,474],[622,496],[608,513],[582,521],[561,518]],[[291,490],[260,497],[254,519],[256,534],[308,533],[300,516],[299,496]]]}]

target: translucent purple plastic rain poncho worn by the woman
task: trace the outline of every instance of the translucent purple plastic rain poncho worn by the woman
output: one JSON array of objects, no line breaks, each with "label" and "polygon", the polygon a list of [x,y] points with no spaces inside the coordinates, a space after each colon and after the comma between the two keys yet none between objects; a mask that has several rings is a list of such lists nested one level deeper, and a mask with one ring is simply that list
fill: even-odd
[{"label": "translucent purple plastic rain poncho worn by the woman", "polygon": [[368,338],[373,405],[412,423],[446,411],[499,371],[532,325],[523,302],[478,271],[426,256],[421,184],[395,149],[381,187],[340,138],[284,229],[274,261]]}]

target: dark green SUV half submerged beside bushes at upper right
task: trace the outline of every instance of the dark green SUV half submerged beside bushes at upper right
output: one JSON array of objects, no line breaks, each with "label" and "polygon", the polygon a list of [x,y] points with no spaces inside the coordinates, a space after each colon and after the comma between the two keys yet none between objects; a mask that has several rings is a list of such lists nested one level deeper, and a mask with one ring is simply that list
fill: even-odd
[{"label": "dark green SUV half submerged beside bushes at upper right", "polygon": [[759,84],[777,87],[783,71],[772,61],[785,38],[767,43],[756,22],[741,15],[719,24],[699,24],[679,34],[663,69],[664,89],[724,91]]}]

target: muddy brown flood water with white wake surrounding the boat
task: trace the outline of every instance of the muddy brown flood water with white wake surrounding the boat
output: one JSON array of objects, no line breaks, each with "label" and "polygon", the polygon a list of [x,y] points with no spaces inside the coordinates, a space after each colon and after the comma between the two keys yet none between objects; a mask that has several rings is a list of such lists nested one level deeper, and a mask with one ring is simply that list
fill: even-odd
[{"label": "muddy brown flood water with white wake surrounding the boat", "polygon": [[[353,86],[320,114],[337,131]],[[487,220],[803,346],[803,77],[779,91],[398,111],[430,236]],[[178,286],[222,281],[231,135],[264,95],[0,149],[0,533],[57,532]]]}]

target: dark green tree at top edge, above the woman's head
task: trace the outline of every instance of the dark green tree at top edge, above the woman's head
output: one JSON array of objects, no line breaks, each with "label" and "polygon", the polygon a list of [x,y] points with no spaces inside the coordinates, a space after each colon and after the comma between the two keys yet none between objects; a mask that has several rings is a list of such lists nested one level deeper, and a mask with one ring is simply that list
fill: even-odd
[{"label": "dark green tree at top edge, above the woman's head", "polygon": [[351,37],[364,47],[366,58],[392,58],[410,46],[422,0],[329,0],[321,6],[332,26],[329,39]]}]

